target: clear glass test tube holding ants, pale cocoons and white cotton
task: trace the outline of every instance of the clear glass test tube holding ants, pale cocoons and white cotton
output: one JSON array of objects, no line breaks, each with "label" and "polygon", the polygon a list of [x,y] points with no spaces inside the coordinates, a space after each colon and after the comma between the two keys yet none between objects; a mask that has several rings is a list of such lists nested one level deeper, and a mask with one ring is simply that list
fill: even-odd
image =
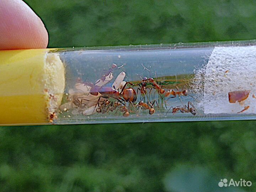
[{"label": "clear glass test tube holding ants, pale cocoons and white cotton", "polygon": [[[255,45],[255,41],[238,41],[47,49],[47,73],[57,74],[48,74],[43,81],[52,82],[40,88],[47,100],[47,112],[40,112],[46,114],[46,121],[42,116],[38,121],[0,119],[0,123],[256,119]],[[5,95],[5,112],[15,90],[11,93]],[[26,105],[20,110],[26,113]]]}]

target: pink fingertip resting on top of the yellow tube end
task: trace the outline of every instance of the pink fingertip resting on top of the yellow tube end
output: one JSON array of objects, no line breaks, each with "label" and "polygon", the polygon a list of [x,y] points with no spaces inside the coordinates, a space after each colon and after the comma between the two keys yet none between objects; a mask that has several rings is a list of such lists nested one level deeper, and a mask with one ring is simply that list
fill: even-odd
[{"label": "pink fingertip resting on top of the yellow tube end", "polygon": [[46,48],[41,19],[22,0],[0,0],[0,50]]}]

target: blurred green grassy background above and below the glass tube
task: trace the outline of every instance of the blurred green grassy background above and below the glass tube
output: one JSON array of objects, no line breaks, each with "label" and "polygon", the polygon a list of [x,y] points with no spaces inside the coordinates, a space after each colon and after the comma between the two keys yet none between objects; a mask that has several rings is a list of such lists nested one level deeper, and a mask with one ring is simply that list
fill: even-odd
[{"label": "blurred green grassy background above and below the glass tube", "polygon": [[[255,1],[26,0],[49,47],[245,40]],[[0,128],[0,191],[256,191],[254,121]],[[218,187],[240,178],[251,187]]]}]

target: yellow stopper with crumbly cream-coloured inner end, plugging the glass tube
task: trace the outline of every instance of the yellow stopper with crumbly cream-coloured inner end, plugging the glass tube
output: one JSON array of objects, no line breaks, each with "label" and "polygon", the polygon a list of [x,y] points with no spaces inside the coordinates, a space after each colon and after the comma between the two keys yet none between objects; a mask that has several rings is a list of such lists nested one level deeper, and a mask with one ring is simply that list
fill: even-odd
[{"label": "yellow stopper with crumbly cream-coloured inner end, plugging the glass tube", "polygon": [[50,49],[0,51],[0,124],[46,124],[57,118],[64,65]]}]

